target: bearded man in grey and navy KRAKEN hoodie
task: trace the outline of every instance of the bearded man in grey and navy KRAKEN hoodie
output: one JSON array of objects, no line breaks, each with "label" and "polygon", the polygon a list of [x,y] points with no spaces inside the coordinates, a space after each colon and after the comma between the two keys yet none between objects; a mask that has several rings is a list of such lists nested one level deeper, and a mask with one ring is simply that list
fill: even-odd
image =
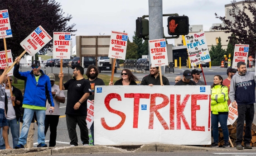
[{"label": "bearded man in grey and navy KRAKEN hoodie", "polygon": [[237,63],[237,70],[238,72],[231,79],[229,91],[232,107],[237,108],[238,111],[236,145],[237,150],[243,149],[241,143],[245,121],[244,148],[252,149],[250,142],[251,124],[254,117],[256,76],[254,72],[246,70],[246,63],[242,61]]}]

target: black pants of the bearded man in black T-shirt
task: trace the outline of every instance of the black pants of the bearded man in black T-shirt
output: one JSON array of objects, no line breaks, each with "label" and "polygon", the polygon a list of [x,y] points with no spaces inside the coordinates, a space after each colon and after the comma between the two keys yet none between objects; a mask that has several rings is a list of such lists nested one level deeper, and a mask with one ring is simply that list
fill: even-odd
[{"label": "black pants of the bearded man in black T-shirt", "polygon": [[86,123],[86,116],[78,116],[66,114],[67,128],[68,128],[68,136],[70,139],[70,145],[78,146],[77,140],[77,124],[80,128],[81,141],[82,144],[89,144],[89,136],[88,136],[88,128]]}]

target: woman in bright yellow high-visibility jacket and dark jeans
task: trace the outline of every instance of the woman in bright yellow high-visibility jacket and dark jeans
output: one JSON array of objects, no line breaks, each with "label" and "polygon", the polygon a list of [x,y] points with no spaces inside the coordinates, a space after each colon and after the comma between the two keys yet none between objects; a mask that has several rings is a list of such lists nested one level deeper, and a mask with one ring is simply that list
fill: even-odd
[{"label": "woman in bright yellow high-visibility jacket and dark jeans", "polygon": [[211,147],[219,147],[219,126],[220,123],[224,145],[223,147],[229,147],[228,143],[228,129],[227,129],[227,117],[228,117],[228,94],[227,86],[222,85],[223,78],[220,75],[216,75],[213,78],[213,85],[211,88],[211,111],[212,111],[212,128],[213,128],[213,143]]}]

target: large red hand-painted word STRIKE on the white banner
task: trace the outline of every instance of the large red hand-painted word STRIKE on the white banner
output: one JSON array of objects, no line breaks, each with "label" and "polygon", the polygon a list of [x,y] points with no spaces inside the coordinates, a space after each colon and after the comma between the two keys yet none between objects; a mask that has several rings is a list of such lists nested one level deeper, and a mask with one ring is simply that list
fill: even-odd
[{"label": "large red hand-painted word STRIKE on the white banner", "polygon": [[[185,118],[184,115],[184,109],[187,105],[188,99],[191,96],[191,128],[189,127],[188,121]],[[165,130],[174,130],[174,101],[175,101],[175,95],[170,95],[170,99],[168,96],[163,95],[163,94],[142,94],[142,93],[127,93],[125,94],[125,98],[134,98],[134,109],[133,109],[133,128],[138,128],[138,120],[139,120],[139,107],[140,107],[140,99],[150,99],[150,120],[149,120],[149,129],[153,129],[154,128],[154,114],[156,115],[156,117],[158,118],[159,122],[162,124],[163,128]],[[162,98],[163,102],[161,104],[156,104],[156,98]],[[106,130],[116,130],[122,127],[122,125],[125,123],[126,120],[126,114],[112,109],[110,107],[110,101],[111,99],[117,99],[118,101],[121,101],[121,96],[117,93],[111,93],[106,95],[106,98],[104,99],[104,103],[106,106],[106,109],[111,112],[111,113],[115,113],[118,116],[121,117],[121,122],[118,123],[116,126],[114,127],[110,127],[106,124],[105,118],[101,118],[101,125],[103,126],[103,128],[105,128]],[[204,126],[197,126],[197,111],[200,110],[200,105],[197,105],[197,101],[198,100],[208,100],[210,99],[210,97],[208,95],[185,95],[184,99],[182,100],[182,102],[180,102],[181,99],[181,95],[176,95],[176,115],[177,115],[177,128],[176,129],[181,129],[181,119],[184,123],[184,127],[187,130],[192,130],[192,131],[205,131],[205,127]],[[166,121],[164,120],[164,118],[162,117],[162,115],[159,113],[159,109],[164,108],[165,106],[167,106],[170,103],[169,106],[169,126],[166,123]],[[210,105],[209,105],[210,108]],[[208,119],[210,120],[210,118]],[[208,121],[209,122],[209,121]]]}]

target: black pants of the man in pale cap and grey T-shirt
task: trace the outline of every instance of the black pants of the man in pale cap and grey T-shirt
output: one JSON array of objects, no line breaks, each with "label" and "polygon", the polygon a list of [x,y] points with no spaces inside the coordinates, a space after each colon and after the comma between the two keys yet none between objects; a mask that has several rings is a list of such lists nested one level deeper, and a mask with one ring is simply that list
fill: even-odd
[{"label": "black pants of the man in pale cap and grey T-shirt", "polygon": [[46,135],[47,130],[50,126],[49,147],[54,147],[56,145],[58,119],[59,119],[59,115],[45,115],[44,135]]}]

